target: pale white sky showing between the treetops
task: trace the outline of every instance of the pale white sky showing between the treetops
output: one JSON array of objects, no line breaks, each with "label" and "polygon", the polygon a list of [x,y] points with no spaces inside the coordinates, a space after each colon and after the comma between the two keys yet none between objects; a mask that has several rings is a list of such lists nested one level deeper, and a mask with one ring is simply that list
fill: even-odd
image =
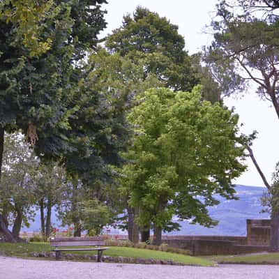
[{"label": "pale white sky showing between the treetops", "polygon": [[[213,40],[208,27],[216,11],[216,0],[108,0],[107,29],[101,36],[111,33],[121,26],[123,15],[133,13],[137,6],[149,8],[162,17],[179,26],[179,33],[186,40],[186,50],[194,54],[202,50],[202,46],[210,45]],[[279,137],[278,118],[270,103],[261,100],[251,86],[247,92],[240,96],[224,99],[227,107],[234,107],[239,114],[241,132],[250,134],[257,130],[257,140],[253,142],[252,149],[266,179],[271,183],[271,177],[276,163],[279,161],[277,140]],[[252,161],[248,158],[247,171],[234,181],[237,184],[248,186],[264,186]]]}]

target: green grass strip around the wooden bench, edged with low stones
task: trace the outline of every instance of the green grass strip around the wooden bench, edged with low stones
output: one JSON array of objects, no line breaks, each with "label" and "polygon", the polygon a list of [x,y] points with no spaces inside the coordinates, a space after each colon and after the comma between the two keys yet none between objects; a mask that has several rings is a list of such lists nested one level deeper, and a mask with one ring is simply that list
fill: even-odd
[{"label": "green grass strip around the wooden bench, edged with low stones", "polygon": [[[30,252],[50,252],[52,248],[49,243],[0,243],[0,255],[28,257]],[[79,251],[68,252],[73,254],[96,254],[96,251]],[[103,255],[112,257],[135,257],[143,259],[171,259],[174,262],[182,264],[191,264],[197,266],[212,266],[213,262],[209,259],[201,259],[199,257],[191,257],[172,252],[161,252],[156,250],[128,248],[128,247],[110,247],[105,250]]]}]

